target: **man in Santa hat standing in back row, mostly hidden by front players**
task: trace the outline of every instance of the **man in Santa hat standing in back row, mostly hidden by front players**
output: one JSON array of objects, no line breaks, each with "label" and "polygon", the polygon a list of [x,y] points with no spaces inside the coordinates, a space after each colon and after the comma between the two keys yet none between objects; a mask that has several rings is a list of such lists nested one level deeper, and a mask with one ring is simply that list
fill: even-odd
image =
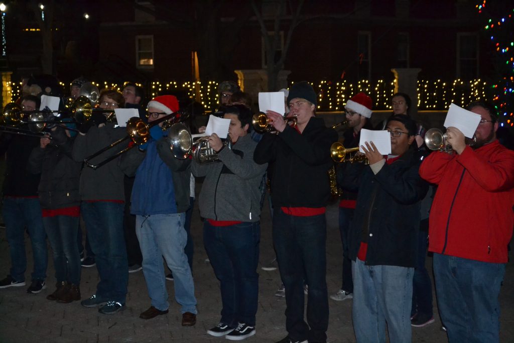
[{"label": "man in Santa hat standing in back row, mostly hidden by front players", "polygon": [[[344,105],[346,114],[347,129],[343,133],[344,147],[355,148],[359,146],[361,129],[373,130],[371,124],[372,100],[365,93],[357,93]],[[352,130],[350,130],[352,129]],[[342,192],[339,202],[339,231],[343,245],[343,271],[341,289],[330,296],[336,301],[343,301],[353,298],[352,260],[348,253],[348,231],[352,221],[356,192]]]}]

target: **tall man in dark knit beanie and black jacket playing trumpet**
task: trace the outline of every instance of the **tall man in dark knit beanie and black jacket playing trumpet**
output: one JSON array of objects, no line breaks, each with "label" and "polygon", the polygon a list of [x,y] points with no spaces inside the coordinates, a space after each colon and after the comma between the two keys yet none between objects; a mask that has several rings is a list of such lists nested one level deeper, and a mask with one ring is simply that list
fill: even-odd
[{"label": "tall man in dark knit beanie and black jacket playing trumpet", "polygon": [[[325,342],[328,328],[326,286],[326,219],[330,198],[330,147],[337,133],[315,117],[316,93],[307,82],[295,83],[287,97],[289,117],[267,111],[278,134],[265,133],[255,149],[256,163],[275,162],[273,243],[286,294],[286,330],[280,343]],[[308,285],[307,323],[304,321],[304,279]]]}]

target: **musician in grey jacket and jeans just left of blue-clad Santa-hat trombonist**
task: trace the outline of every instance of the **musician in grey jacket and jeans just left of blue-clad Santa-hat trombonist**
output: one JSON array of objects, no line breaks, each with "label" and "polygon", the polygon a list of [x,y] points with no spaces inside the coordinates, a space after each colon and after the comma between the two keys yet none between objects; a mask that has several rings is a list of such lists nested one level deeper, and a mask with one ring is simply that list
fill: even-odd
[{"label": "musician in grey jacket and jeans just left of blue-clad Santa-hat trombonist", "polygon": [[[99,103],[102,109],[114,110],[123,107],[125,100],[121,93],[105,89],[100,93]],[[95,111],[89,121],[77,125],[80,132],[72,152],[76,161],[83,161],[126,135],[124,128],[107,122],[109,115],[112,114]],[[114,154],[115,149],[110,149],[95,160]],[[86,308],[101,306],[98,312],[103,314],[114,314],[125,308],[128,283],[123,237],[124,174],[118,160],[109,161],[96,170],[84,167],[80,175],[81,213],[100,276],[96,293],[82,300],[81,305]]]}]

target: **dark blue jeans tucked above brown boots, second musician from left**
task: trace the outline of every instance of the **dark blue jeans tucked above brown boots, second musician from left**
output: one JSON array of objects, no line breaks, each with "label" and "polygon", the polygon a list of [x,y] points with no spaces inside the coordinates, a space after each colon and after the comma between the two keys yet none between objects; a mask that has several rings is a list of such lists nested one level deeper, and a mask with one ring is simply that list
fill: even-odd
[{"label": "dark blue jeans tucked above brown boots, second musician from left", "polygon": [[80,255],[77,248],[79,217],[56,215],[43,218],[48,241],[53,251],[57,282],[80,284]]}]

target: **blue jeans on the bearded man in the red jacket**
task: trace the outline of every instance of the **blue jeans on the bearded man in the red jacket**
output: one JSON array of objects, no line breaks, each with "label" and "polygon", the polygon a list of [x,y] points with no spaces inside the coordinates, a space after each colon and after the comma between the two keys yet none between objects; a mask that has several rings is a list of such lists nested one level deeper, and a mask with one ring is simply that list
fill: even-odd
[{"label": "blue jeans on the bearded man in the red jacket", "polygon": [[505,264],[434,253],[437,305],[448,340],[498,342]]}]

